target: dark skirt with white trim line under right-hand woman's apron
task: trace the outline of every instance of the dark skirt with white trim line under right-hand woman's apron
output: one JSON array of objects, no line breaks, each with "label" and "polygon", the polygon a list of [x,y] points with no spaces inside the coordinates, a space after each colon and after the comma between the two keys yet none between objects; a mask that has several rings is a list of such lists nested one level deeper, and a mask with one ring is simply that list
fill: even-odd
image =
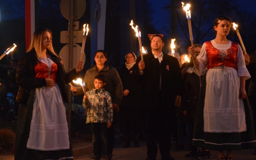
[{"label": "dark skirt with white trim line under right-hand woman's apron", "polygon": [[204,74],[199,102],[195,117],[195,127],[193,135],[193,146],[201,146],[211,150],[241,150],[256,147],[255,133],[253,127],[253,118],[250,103],[246,96],[243,99],[245,110],[245,121],[247,130],[244,132],[233,133],[211,133],[204,132],[204,98],[206,90],[206,73]]}]

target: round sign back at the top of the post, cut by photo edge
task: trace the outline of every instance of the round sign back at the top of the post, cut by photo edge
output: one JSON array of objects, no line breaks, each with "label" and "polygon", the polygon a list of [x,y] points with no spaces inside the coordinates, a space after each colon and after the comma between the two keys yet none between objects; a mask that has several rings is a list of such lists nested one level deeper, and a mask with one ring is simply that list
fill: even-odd
[{"label": "round sign back at the top of the post, cut by photo edge", "polygon": [[[60,12],[64,18],[69,20],[69,0],[60,1]],[[74,19],[77,20],[82,17],[86,9],[85,0],[74,0]]]}]

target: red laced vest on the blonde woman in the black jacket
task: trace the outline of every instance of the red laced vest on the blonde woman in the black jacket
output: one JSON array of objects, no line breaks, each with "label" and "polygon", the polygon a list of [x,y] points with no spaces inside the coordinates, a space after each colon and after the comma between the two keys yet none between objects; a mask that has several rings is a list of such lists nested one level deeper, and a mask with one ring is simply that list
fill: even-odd
[{"label": "red laced vest on the blonde woman in the black jacket", "polygon": [[56,73],[58,70],[58,66],[56,63],[52,64],[52,69],[50,74],[48,73],[48,69],[50,69],[45,63],[41,61],[37,61],[37,65],[35,65],[35,77],[38,78],[52,78],[56,82]]}]

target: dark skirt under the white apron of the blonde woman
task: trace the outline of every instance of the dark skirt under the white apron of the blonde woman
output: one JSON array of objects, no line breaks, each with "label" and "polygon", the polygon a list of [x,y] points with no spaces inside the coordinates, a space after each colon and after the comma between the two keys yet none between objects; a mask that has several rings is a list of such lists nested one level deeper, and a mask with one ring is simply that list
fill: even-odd
[{"label": "dark skirt under the white apron of the blonde woman", "polygon": [[73,150],[71,146],[71,139],[69,134],[69,149],[62,150],[35,150],[28,149],[27,142],[30,133],[30,125],[33,114],[33,104],[35,101],[35,90],[30,90],[27,104],[19,105],[19,112],[17,118],[16,142],[15,142],[15,160],[73,160]]}]

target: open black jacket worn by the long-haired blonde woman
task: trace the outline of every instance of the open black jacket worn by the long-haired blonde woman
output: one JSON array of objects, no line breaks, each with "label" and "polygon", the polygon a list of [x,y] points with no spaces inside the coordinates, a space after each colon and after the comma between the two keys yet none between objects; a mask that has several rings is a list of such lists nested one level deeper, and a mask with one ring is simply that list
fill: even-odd
[{"label": "open black jacket worn by the long-haired blonde woman", "polygon": [[[67,88],[66,84],[75,79],[79,73],[75,72],[75,69],[71,70],[69,73],[65,73],[64,67],[61,64],[61,58],[55,56],[49,50],[47,53],[52,57],[52,60],[57,64],[57,79],[56,83],[60,87],[62,93],[63,101],[68,102]],[[28,53],[23,54],[18,62],[18,67],[16,69],[16,82],[19,85],[18,95],[16,101],[22,104],[26,104],[29,91],[31,89],[40,88],[46,86],[45,78],[36,78],[34,67],[37,64],[37,56],[35,50],[31,50]]]}]

